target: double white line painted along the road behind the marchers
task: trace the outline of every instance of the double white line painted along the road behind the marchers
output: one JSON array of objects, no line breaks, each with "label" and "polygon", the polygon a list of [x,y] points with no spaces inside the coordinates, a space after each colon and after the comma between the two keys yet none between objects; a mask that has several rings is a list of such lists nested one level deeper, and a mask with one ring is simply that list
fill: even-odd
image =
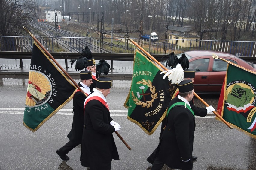
[{"label": "double white line painted along the road behind the marchers", "polygon": [[[11,111],[10,111],[11,110]],[[67,111],[67,112],[65,112]],[[58,115],[73,115],[73,109],[60,109]],[[110,116],[127,116],[128,110],[109,110]],[[126,114],[121,114],[126,113]],[[24,108],[0,108],[0,114],[24,114]],[[196,118],[215,118],[214,113],[208,113],[205,117],[195,116]]]}]

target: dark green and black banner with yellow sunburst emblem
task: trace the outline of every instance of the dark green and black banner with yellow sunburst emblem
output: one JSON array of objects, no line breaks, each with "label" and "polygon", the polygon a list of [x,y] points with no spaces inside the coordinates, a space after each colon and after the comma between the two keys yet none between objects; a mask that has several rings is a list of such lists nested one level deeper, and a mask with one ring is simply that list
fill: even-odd
[{"label": "dark green and black banner with yellow sunburst emblem", "polygon": [[34,43],[23,124],[35,132],[65,106],[76,87]]}]

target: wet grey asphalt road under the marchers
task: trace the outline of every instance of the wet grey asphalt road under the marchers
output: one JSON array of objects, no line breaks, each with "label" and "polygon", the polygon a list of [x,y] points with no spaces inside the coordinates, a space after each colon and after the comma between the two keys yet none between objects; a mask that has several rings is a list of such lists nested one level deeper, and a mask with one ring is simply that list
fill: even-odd
[{"label": "wet grey asphalt road under the marchers", "polygon": [[[56,149],[62,147],[72,126],[72,102],[55,114],[35,133],[23,126],[23,109],[28,77],[0,76],[0,169],[86,169],[80,164],[81,146],[69,152],[69,161],[62,161]],[[78,82],[76,80],[76,82]],[[130,88],[130,79],[113,81],[107,97],[111,117],[121,125],[119,134],[131,151],[114,134],[120,161],[112,161],[113,170],[145,170],[151,164],[146,158],[159,143],[160,128],[151,136],[130,122],[123,103]],[[217,108],[218,95],[200,95]],[[203,104],[195,99],[195,105]],[[256,140],[236,129],[228,128],[213,114],[196,117],[193,155],[198,156],[194,170],[255,170]],[[164,167],[164,170],[169,170]]]}]

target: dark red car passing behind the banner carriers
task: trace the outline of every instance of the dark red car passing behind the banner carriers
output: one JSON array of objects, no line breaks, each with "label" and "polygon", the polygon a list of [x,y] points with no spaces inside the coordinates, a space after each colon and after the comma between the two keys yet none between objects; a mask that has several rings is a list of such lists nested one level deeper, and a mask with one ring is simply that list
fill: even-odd
[{"label": "dark red car passing behind the banner carriers", "polygon": [[[181,57],[183,53],[177,55]],[[226,75],[227,62],[221,59],[214,59],[212,54],[216,54],[219,58],[226,59],[244,68],[256,72],[253,63],[249,63],[229,53],[219,51],[187,51],[184,52],[189,60],[189,68],[196,70],[194,80],[194,91],[196,93],[220,94],[221,87]],[[161,61],[166,66],[167,60]],[[166,67],[168,69],[168,66]]]}]

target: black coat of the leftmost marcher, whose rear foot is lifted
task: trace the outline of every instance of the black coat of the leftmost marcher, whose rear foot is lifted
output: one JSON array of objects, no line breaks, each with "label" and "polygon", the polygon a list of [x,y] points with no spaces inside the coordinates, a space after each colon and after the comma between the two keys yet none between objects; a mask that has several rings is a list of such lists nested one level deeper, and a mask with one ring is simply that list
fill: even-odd
[{"label": "black coat of the leftmost marcher, whose rear foot is lifted", "polygon": [[[79,87],[83,87],[80,82],[78,83]],[[86,96],[83,92],[77,91],[73,97],[73,123],[71,131],[68,134],[69,140],[72,142],[81,144],[82,135],[84,129],[84,100]]]}]

